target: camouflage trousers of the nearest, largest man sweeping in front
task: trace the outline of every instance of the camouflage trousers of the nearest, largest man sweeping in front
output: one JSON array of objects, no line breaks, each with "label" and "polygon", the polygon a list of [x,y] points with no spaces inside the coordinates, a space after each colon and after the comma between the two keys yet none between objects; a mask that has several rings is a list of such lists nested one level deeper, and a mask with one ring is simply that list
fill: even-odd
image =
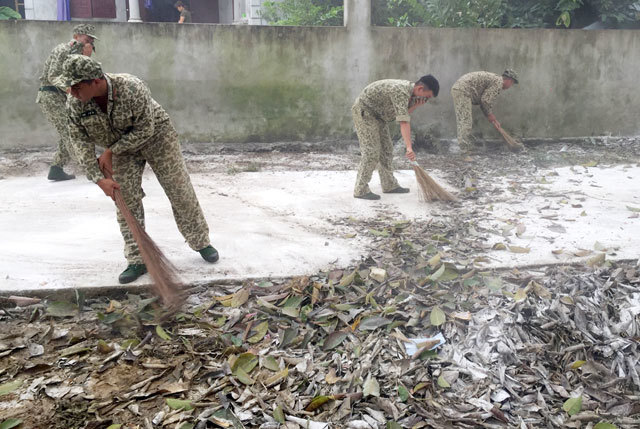
[{"label": "camouflage trousers of the nearest, largest man sweeping in front", "polygon": [[[178,135],[172,126],[159,134],[161,135],[157,135],[155,141],[134,154],[114,155],[113,178],[120,184],[127,207],[144,227],[142,173],[145,165],[149,163],[169,198],[178,230],[189,247],[200,250],[210,244],[209,227],[180,152]],[[124,238],[124,255],[127,262],[143,263],[140,249],[119,210],[118,224]]]}]

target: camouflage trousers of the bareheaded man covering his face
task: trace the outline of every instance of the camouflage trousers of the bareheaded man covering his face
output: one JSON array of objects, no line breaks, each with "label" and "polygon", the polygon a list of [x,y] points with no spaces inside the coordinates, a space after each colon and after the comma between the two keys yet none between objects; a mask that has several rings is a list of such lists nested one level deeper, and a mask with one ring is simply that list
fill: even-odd
[{"label": "camouflage trousers of the bareheaded man covering his face", "polygon": [[371,192],[369,182],[376,167],[378,167],[382,190],[387,192],[397,188],[400,185],[393,177],[393,143],[389,134],[389,126],[375,118],[358,103],[351,108],[351,113],[360,142],[361,154],[353,195],[361,196]]}]

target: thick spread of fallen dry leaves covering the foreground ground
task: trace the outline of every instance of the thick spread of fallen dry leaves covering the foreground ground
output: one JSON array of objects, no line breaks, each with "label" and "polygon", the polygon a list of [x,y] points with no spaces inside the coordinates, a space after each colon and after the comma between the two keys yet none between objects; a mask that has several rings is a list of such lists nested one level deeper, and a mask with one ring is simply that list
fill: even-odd
[{"label": "thick spread of fallen dry leaves covering the foreground ground", "polygon": [[[530,183],[568,153],[594,156],[454,159],[450,181],[482,200],[497,188],[479,172]],[[357,265],[196,287],[171,319],[144,293],[0,298],[0,428],[640,427],[638,264],[596,245],[488,269],[527,231],[514,216],[490,243],[482,209],[334,219],[370,243]]]}]

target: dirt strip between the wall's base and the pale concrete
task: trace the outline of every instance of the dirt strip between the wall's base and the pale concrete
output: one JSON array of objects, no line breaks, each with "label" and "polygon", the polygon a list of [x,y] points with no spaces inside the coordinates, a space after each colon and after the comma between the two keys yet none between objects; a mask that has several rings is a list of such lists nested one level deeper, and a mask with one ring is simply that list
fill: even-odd
[{"label": "dirt strip between the wall's base and the pale concrete", "polygon": [[[499,141],[479,144],[471,160],[451,152],[450,141],[425,140],[416,144],[418,160],[425,168],[459,171],[474,168],[492,174],[507,174],[527,168],[553,168],[580,164],[620,164],[640,157],[639,139],[569,139],[566,141],[534,140],[527,143],[525,153],[513,155]],[[396,148],[396,167],[406,168],[402,159],[403,145]],[[353,170],[357,168],[357,142],[339,142],[328,146],[300,145],[210,145],[185,144],[183,153],[192,172],[223,172],[230,175],[247,171],[283,170]],[[45,175],[51,151],[12,151],[0,154],[0,177]],[[71,166],[81,175],[77,166]]]}]

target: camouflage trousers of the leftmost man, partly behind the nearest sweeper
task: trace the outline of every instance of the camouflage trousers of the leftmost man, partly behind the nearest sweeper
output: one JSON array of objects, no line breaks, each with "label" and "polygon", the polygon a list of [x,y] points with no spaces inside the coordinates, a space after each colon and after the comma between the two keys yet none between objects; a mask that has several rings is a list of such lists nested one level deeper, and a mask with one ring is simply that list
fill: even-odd
[{"label": "camouflage trousers of the leftmost man, partly behind the nearest sweeper", "polygon": [[38,91],[36,102],[40,105],[47,121],[49,121],[58,132],[58,148],[53,156],[51,165],[63,167],[71,160],[72,156],[75,158],[69,139],[69,119],[66,107],[67,96],[61,92]]}]

